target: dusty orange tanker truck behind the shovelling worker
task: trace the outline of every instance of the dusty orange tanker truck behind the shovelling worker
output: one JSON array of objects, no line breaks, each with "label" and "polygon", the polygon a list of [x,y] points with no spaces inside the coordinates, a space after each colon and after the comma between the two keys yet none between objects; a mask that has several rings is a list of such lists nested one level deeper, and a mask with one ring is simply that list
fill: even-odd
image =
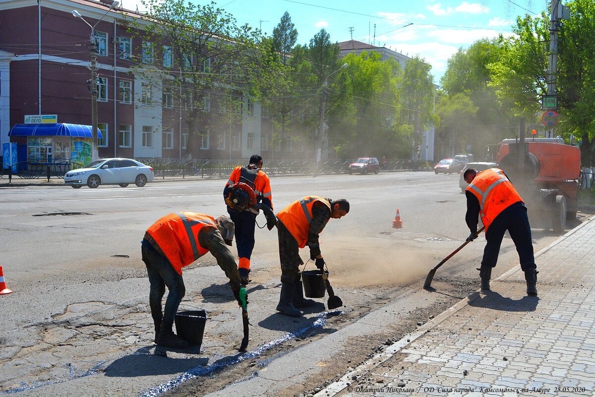
[{"label": "dusty orange tanker truck behind the shovelling worker", "polygon": [[[529,215],[556,233],[577,217],[581,152],[561,138],[505,139],[498,144],[499,167],[527,203]],[[547,223],[543,221],[547,220]]]}]

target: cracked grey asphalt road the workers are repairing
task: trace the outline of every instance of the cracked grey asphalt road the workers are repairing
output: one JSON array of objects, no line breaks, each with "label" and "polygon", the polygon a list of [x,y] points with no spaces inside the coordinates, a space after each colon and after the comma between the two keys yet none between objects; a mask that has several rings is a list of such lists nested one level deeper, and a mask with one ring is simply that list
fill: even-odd
[{"label": "cracked grey asphalt road the workers are repairing", "polygon": [[[237,354],[239,311],[226,277],[207,254],[184,268],[187,292],[181,305],[208,312],[201,350],[155,357],[140,240],[148,226],[169,212],[224,214],[223,185],[224,180],[200,180],[144,188],[0,189],[0,265],[14,290],[0,296],[0,394],[156,395],[172,393],[168,390],[177,385],[181,395],[217,393],[245,380],[250,368],[266,371],[278,355],[325,341],[328,351],[318,352],[334,357],[331,373],[311,359],[296,358],[295,367],[302,368],[296,370],[299,377],[289,386],[267,389],[271,395],[296,395],[345,371],[375,344],[402,336],[478,287],[475,268],[483,237],[440,268],[433,283],[436,293],[421,290],[430,268],[468,235],[457,174],[274,177],[277,211],[305,195],[349,200],[349,214],[331,220],[321,235],[330,280],[345,308],[320,317],[326,299],[319,299],[318,311],[304,318],[276,314],[277,233],[259,229],[248,288],[252,354]],[[399,230],[391,227],[397,208],[403,220]],[[264,226],[263,215],[258,222]],[[547,230],[533,234],[536,251],[556,238]],[[308,257],[306,248],[302,258]],[[518,257],[507,237],[493,277],[514,266]],[[387,324],[370,323],[344,339],[330,337],[395,301],[402,301],[402,310],[385,315]],[[349,353],[335,357],[342,349]],[[184,373],[196,379],[181,382],[186,378],[178,377]]]}]

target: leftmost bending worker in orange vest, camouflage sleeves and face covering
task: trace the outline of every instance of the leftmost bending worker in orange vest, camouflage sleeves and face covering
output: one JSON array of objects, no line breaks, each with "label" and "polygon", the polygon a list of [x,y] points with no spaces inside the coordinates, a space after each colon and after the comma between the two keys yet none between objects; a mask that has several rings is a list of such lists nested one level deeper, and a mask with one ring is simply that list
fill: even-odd
[{"label": "leftmost bending worker in orange vest, camouflage sleeves and face covering", "polygon": [[[184,349],[186,340],[180,339],[172,330],[174,318],[186,287],[182,268],[207,252],[217,259],[217,264],[226,273],[231,290],[239,305],[240,275],[236,261],[227,248],[234,232],[233,222],[223,215],[217,219],[196,212],[176,212],[165,215],[145,232],[142,240],[142,260],[149,274],[149,305],[155,324],[155,343],[159,346]],[[161,299],[169,289],[165,310],[161,312]]]}]

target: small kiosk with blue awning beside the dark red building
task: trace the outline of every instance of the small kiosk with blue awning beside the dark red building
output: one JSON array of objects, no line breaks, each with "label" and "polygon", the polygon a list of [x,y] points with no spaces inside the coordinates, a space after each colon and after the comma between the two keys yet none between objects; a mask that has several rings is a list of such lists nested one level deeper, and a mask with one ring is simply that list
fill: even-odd
[{"label": "small kiosk with blue awning beside the dark red building", "polygon": [[[93,161],[92,127],[83,124],[15,124],[8,136],[27,137],[27,161]],[[97,136],[102,139],[101,130]]]}]

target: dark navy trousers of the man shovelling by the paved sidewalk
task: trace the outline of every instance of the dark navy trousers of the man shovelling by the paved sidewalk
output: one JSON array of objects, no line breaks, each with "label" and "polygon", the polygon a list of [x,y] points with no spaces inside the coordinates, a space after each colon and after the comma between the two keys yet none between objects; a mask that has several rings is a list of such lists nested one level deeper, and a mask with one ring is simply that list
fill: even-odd
[{"label": "dark navy trousers of the man shovelling by the paved sidewalk", "polygon": [[500,253],[502,237],[508,230],[512,241],[515,243],[516,252],[519,254],[522,270],[537,268],[533,255],[533,242],[531,241],[531,226],[527,217],[527,208],[518,205],[507,208],[490,224],[486,232],[486,248],[484,249],[482,267],[495,267]]}]

